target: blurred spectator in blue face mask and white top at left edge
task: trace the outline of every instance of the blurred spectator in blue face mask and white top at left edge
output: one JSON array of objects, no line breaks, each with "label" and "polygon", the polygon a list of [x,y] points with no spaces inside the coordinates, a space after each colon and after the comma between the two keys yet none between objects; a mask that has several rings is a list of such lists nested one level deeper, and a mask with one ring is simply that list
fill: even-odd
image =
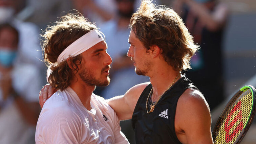
[{"label": "blurred spectator in blue face mask and white top at left edge", "polygon": [[18,31],[0,25],[0,143],[35,143],[35,126],[40,113],[39,71],[17,64]]}]

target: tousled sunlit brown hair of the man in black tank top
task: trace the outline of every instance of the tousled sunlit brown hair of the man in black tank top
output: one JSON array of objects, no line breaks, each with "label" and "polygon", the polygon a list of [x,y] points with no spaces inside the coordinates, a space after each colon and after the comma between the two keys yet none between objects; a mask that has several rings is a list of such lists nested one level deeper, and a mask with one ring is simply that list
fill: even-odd
[{"label": "tousled sunlit brown hair of the man in black tank top", "polygon": [[143,0],[132,15],[130,27],[148,50],[154,45],[162,49],[165,61],[175,70],[191,68],[189,61],[198,46],[174,10]]}]

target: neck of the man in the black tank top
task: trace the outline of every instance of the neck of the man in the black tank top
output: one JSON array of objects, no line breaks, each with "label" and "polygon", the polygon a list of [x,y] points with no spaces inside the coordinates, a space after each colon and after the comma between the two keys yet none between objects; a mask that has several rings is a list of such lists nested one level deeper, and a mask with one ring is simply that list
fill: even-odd
[{"label": "neck of the man in the black tank top", "polygon": [[169,88],[169,86],[171,86],[174,80],[175,83],[180,78],[180,72],[173,70],[173,68],[169,65],[157,65],[156,67],[153,71],[151,71],[151,75],[149,75],[150,82],[153,87],[153,101],[157,100],[158,97],[160,97]]}]

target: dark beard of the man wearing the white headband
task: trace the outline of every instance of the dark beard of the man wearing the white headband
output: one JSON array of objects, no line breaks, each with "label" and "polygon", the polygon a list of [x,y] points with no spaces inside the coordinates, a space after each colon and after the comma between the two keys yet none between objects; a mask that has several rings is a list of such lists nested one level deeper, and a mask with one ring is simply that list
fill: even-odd
[{"label": "dark beard of the man wearing the white headband", "polygon": [[[106,69],[110,68],[110,66],[106,66],[105,68],[102,69],[101,73],[103,73],[104,71],[106,71]],[[107,75],[106,79],[97,79],[94,75],[94,72],[90,71],[89,69],[83,69],[80,73],[79,73],[79,77],[88,85],[90,86],[108,86],[109,82],[110,82],[110,78]]]}]

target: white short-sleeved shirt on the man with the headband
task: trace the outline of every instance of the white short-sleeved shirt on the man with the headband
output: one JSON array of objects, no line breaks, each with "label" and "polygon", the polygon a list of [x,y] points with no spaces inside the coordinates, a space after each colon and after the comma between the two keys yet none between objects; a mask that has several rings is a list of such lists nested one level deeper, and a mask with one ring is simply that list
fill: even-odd
[{"label": "white short-sleeved shirt on the man with the headband", "polygon": [[36,143],[127,144],[114,110],[95,94],[88,111],[70,87],[53,94],[40,113]]}]

